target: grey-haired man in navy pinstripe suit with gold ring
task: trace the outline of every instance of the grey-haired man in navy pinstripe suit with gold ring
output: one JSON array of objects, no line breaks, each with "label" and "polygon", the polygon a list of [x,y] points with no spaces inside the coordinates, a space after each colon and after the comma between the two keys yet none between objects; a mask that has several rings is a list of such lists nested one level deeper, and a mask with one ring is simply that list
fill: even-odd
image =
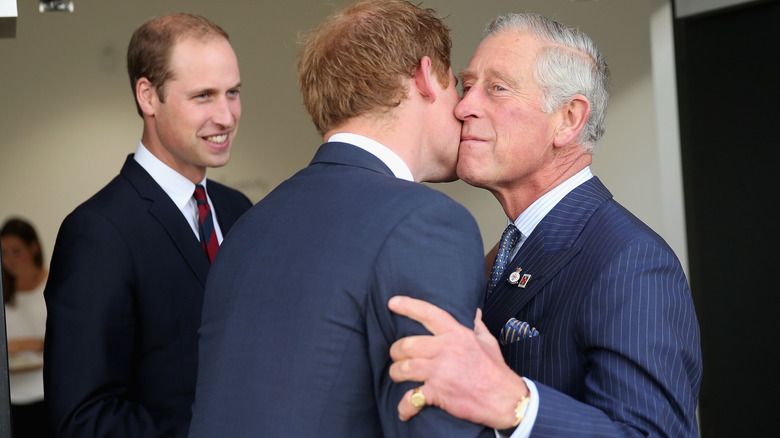
[{"label": "grey-haired man in navy pinstripe suit with gold ring", "polygon": [[685,274],[590,171],[603,57],[584,33],[536,14],[499,17],[485,35],[460,74],[457,170],[493,193],[509,225],[487,257],[475,330],[424,301],[390,300],[433,333],[391,348],[391,377],[424,382],[401,418],[429,404],[513,437],[698,436],[701,349]]}]

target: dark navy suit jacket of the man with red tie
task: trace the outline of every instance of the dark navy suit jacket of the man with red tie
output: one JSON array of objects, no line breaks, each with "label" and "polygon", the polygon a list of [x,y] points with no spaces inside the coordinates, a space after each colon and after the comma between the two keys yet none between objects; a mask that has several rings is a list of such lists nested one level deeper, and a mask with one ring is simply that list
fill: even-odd
[{"label": "dark navy suit jacket of the man with red tie", "polygon": [[[213,181],[207,190],[227,234],[251,203]],[[44,293],[54,436],[186,436],[209,267],[181,211],[132,155],[68,215]]]}]

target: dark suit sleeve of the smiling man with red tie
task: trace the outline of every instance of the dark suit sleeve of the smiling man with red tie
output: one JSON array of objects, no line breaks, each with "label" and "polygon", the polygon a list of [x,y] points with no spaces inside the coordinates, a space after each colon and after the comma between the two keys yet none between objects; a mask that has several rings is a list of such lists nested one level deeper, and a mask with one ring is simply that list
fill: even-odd
[{"label": "dark suit sleeve of the smiling man with red tie", "polygon": [[45,291],[44,385],[53,436],[174,436],[186,426],[186,419],[155,418],[128,399],[137,365],[136,284],[119,228],[85,210],[60,228]]}]

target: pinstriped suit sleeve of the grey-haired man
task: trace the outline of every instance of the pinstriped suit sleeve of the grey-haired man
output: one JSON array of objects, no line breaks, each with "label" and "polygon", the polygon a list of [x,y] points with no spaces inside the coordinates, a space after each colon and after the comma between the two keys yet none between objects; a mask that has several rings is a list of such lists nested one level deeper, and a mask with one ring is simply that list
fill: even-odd
[{"label": "pinstriped suit sleeve of the grey-haired man", "polygon": [[655,243],[627,247],[591,286],[579,315],[585,399],[537,382],[533,435],[697,436],[698,325],[674,255]]}]

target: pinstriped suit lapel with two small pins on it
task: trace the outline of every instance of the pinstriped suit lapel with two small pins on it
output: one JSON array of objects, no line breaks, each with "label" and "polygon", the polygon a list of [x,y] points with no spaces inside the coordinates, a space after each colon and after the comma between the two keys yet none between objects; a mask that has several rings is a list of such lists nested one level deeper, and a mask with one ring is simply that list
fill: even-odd
[{"label": "pinstriped suit lapel with two small pins on it", "polygon": [[[601,181],[593,177],[567,194],[539,222],[485,303],[483,319],[494,336],[577,255],[577,238],[593,212],[611,197]],[[518,268],[522,269],[521,276],[530,275],[524,288],[508,281]]]}]

